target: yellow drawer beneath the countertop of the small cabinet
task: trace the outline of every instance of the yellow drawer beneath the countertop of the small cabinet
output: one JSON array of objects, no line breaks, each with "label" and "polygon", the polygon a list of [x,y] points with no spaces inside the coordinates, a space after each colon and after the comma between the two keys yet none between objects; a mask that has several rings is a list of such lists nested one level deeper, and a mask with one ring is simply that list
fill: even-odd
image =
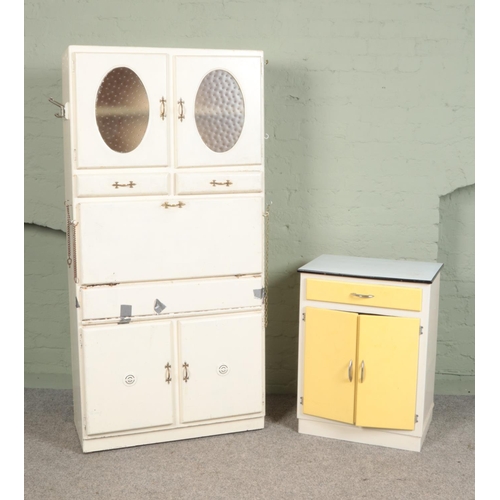
[{"label": "yellow drawer beneath the countertop of the small cabinet", "polygon": [[390,285],[365,285],[340,281],[308,279],[307,300],[338,302],[406,311],[422,310],[422,290]]}]

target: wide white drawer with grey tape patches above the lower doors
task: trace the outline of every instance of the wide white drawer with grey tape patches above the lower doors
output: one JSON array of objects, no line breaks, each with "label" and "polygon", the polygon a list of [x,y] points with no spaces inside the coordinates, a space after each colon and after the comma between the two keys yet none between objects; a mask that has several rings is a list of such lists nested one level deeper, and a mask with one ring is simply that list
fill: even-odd
[{"label": "wide white drawer with grey tape patches above the lower doors", "polygon": [[83,286],[80,307],[83,320],[255,307],[261,288],[260,276]]}]

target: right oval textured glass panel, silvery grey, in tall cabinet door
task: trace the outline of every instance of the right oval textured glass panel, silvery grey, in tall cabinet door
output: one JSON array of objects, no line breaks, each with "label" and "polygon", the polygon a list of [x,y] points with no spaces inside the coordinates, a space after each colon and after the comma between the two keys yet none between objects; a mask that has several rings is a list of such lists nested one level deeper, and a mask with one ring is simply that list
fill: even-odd
[{"label": "right oval textured glass panel, silvery grey, in tall cabinet door", "polygon": [[245,102],[238,82],[222,69],[201,82],[194,105],[196,127],[203,142],[216,153],[229,151],[245,122]]}]

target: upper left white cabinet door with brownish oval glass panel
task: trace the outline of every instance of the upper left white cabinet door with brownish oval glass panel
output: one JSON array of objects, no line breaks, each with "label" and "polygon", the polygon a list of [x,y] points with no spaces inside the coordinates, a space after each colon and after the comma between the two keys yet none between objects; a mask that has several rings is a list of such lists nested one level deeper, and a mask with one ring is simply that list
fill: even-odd
[{"label": "upper left white cabinet door with brownish oval glass panel", "polygon": [[77,167],[167,166],[167,56],[75,58]]}]

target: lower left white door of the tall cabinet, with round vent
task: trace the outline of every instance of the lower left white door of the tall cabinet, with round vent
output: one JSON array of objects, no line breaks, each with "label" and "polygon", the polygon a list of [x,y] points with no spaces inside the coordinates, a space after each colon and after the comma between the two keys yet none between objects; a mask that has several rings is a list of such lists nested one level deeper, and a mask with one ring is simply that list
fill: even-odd
[{"label": "lower left white door of the tall cabinet, with round vent", "polygon": [[87,434],[173,422],[172,323],[84,327]]}]

